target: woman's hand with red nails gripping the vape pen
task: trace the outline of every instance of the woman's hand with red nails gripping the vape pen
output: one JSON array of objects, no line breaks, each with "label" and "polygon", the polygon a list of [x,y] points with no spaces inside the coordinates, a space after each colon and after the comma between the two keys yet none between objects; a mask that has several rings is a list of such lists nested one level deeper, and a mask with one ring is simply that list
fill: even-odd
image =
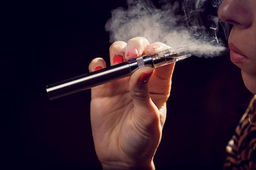
[{"label": "woman's hand with red nails gripping the vape pen", "polygon": [[[115,65],[166,48],[142,37],[127,44],[116,41],[110,46],[110,62]],[[95,58],[89,70],[104,67],[105,61]],[[131,77],[91,89],[91,128],[102,168],[155,168],[153,158],[162,137],[173,69],[174,64],[154,70],[143,67]]]}]

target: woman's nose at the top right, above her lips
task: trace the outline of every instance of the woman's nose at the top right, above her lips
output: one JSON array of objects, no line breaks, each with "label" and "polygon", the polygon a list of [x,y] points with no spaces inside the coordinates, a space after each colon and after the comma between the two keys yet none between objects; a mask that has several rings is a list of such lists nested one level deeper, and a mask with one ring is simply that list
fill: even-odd
[{"label": "woman's nose at the top right, above her lips", "polygon": [[[219,6],[218,16],[222,21],[234,26],[250,27],[252,25],[252,13],[249,3],[241,0],[225,0]],[[255,9],[254,9],[255,10]]]}]

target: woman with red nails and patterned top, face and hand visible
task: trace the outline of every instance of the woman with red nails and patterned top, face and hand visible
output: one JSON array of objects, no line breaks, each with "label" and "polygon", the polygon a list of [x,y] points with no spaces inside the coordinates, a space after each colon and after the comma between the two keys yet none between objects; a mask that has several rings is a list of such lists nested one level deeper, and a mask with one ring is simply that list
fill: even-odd
[{"label": "woman with red nails and patterned top, face and hand visible", "polygon": [[[233,24],[229,36],[230,60],[241,68],[244,84],[253,94],[256,94],[255,9],[254,0],[226,0],[218,11],[219,18]],[[127,43],[116,41],[110,47],[110,62],[115,65],[166,47],[168,46],[161,42],[150,44],[147,39],[141,37],[132,38]],[[91,126],[96,154],[102,168],[155,168],[153,158],[162,137],[174,65],[170,64],[154,71],[143,67],[130,78],[91,90]],[[104,67],[104,60],[96,58],[91,62],[89,70],[93,72]],[[256,131],[253,102],[251,107],[254,106],[254,110],[247,110],[240,126],[236,128],[236,135],[227,147],[229,156],[225,168],[256,168],[255,160],[252,160],[255,154],[253,143],[256,140],[253,134]],[[246,136],[240,133],[241,125],[250,127],[244,133]],[[249,140],[246,138],[248,135]],[[247,143],[244,144],[244,141]]]}]

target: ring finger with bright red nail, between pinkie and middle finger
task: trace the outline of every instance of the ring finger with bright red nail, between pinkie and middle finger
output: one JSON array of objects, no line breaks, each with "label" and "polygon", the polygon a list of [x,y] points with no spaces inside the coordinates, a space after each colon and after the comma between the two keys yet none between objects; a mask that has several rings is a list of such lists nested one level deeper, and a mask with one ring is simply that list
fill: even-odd
[{"label": "ring finger with bright red nail, between pinkie and middle finger", "polygon": [[110,65],[116,65],[123,63],[124,60],[124,52],[126,49],[126,42],[124,41],[116,41],[109,48],[109,56],[110,56]]}]

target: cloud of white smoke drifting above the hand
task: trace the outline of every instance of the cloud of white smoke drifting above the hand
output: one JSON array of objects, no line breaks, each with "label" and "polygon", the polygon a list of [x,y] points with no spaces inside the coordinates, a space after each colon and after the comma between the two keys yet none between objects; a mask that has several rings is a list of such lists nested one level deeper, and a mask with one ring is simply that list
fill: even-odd
[{"label": "cloud of white smoke drifting above the hand", "polygon": [[[221,4],[218,0],[211,2],[214,7]],[[143,36],[151,43],[160,41],[172,47],[187,46],[197,56],[205,57],[216,56],[226,49],[216,36],[217,16],[207,18],[213,23],[212,32],[201,25],[199,13],[207,9],[208,1],[185,0],[182,5],[163,0],[160,3],[162,7],[156,8],[151,1],[127,0],[127,9],[113,10],[112,18],[105,24],[105,30],[110,32],[110,42]]]}]

